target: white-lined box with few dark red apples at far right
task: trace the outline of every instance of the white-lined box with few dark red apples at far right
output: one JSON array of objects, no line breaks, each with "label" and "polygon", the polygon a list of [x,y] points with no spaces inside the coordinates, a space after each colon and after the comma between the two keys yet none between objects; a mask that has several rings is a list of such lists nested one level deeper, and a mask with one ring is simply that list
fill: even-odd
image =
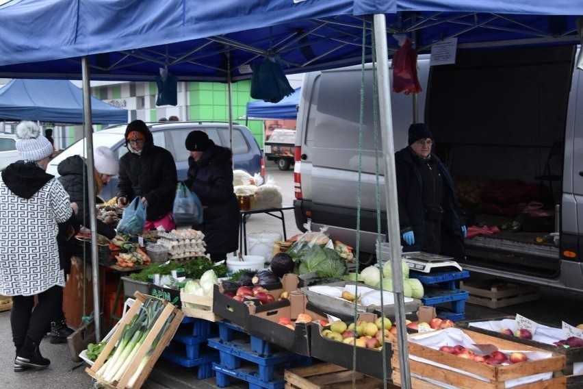
[{"label": "white-lined box with few dark red apples at far right", "polygon": [[[517,342],[520,344],[526,344],[532,347],[538,347],[539,349],[551,351],[553,353],[565,355],[565,369],[563,370],[563,375],[567,377],[567,388],[583,388],[583,375],[573,375],[573,364],[583,364],[583,347],[577,348],[565,348],[565,347],[558,347],[553,343],[545,343],[537,340],[536,332],[534,333],[533,339],[524,339],[519,338],[517,336],[510,336],[506,334],[502,334],[500,332],[501,328],[508,327],[512,329],[512,323],[515,321],[515,316],[501,316],[497,318],[489,318],[489,319],[480,319],[474,321],[458,321],[456,322],[456,327],[470,329],[471,331],[480,332],[481,334],[487,334],[489,336],[494,336],[496,338],[502,338],[505,340],[510,340],[513,342]],[[477,327],[477,325],[481,325],[482,327]],[[486,325],[487,324],[487,325]],[[540,323],[539,323],[540,324]],[[541,327],[542,326],[542,327]],[[487,328],[484,328],[487,327]],[[500,327],[498,330],[494,330]],[[546,325],[539,325],[543,331],[543,327],[547,327],[547,336],[552,334],[560,334],[562,331],[558,328],[553,328]],[[539,329],[537,327],[537,331]],[[488,329],[491,328],[491,329]],[[548,329],[554,329],[554,331],[548,331]],[[543,338],[541,336],[541,338]],[[560,336],[557,336],[555,341],[561,340]]]}]

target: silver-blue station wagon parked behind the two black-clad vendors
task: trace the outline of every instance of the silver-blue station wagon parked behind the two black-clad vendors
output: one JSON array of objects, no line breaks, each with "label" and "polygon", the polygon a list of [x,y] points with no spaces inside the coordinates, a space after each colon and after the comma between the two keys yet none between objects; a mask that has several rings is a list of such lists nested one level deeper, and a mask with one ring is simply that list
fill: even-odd
[{"label": "silver-blue station wagon parked behind the two black-clad vendors", "polygon": [[[123,146],[126,127],[127,125],[116,125],[95,132],[93,134],[93,147],[109,147],[117,153],[118,158],[121,158],[122,155],[127,153],[127,148]],[[148,123],[148,127],[152,131],[154,144],[164,147],[174,156],[179,180],[186,179],[188,171],[188,156],[190,154],[184,147],[184,140],[190,131],[195,129],[205,131],[217,145],[229,147],[228,123],[164,122]],[[58,177],[57,165],[71,155],[83,155],[84,150],[85,139],[83,138],[53,158],[49,162],[47,173]],[[250,175],[255,175],[256,173],[265,175],[263,156],[257,140],[255,140],[247,127],[236,123],[233,125],[233,165],[234,169],[244,170]],[[111,199],[116,195],[117,181],[117,176],[113,177],[112,181],[101,190],[100,196],[102,199]]]}]

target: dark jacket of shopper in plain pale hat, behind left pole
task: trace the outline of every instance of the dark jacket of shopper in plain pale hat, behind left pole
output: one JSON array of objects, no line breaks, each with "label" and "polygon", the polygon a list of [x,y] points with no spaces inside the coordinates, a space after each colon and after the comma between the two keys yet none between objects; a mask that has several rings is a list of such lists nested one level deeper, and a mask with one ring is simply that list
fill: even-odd
[{"label": "dark jacket of shopper in plain pale hat, behind left pole", "polygon": [[[89,228],[91,225],[89,208],[89,189],[87,165],[79,155],[72,155],[57,166],[59,181],[67,191],[71,202],[77,203],[79,212],[77,220],[80,225]],[[111,240],[116,236],[116,230],[111,225],[97,219],[97,234]]]}]

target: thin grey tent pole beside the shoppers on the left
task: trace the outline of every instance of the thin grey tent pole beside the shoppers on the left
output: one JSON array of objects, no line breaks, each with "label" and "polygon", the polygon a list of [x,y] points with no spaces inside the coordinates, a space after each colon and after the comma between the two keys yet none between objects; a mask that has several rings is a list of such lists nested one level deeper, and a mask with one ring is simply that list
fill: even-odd
[{"label": "thin grey tent pole beside the shoppers on the left", "polygon": [[[85,147],[87,154],[87,186],[88,186],[88,207],[91,229],[91,272],[93,279],[93,320],[95,323],[96,342],[101,340],[101,316],[99,310],[99,263],[97,258],[97,218],[95,213],[95,175],[93,163],[93,126],[91,116],[91,85],[89,82],[89,58],[84,56],[81,60],[83,69],[83,132],[85,133]],[[85,291],[83,290],[83,293]],[[86,312],[83,312],[86,313]]]}]

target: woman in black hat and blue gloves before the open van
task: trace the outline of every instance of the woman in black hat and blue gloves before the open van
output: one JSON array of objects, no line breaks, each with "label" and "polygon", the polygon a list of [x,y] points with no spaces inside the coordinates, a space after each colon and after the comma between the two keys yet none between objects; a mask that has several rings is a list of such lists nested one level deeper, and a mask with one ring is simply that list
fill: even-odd
[{"label": "woman in black hat and blue gloves before the open van", "polygon": [[403,251],[465,256],[465,224],[448,168],[432,153],[424,123],[409,127],[409,146],[395,153]]}]

